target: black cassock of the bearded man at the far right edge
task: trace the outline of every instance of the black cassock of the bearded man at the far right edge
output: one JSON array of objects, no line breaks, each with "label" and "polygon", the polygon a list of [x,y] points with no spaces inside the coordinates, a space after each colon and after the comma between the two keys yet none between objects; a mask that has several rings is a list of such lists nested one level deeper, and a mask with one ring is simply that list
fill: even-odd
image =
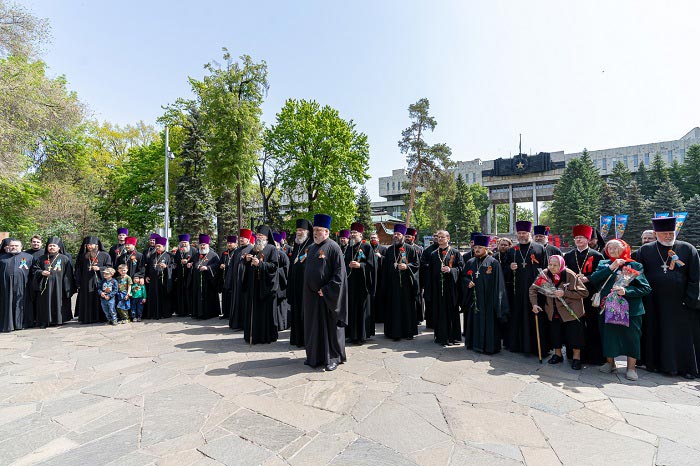
[{"label": "black cassock of the bearded man at the far right edge", "polygon": [[[671,266],[669,251],[685,265]],[[647,369],[670,374],[691,374],[700,370],[700,259],[698,251],[685,241],[672,247],[657,241],[637,251],[637,261],[651,285],[644,298],[642,321],[642,362]],[[667,266],[663,268],[664,262]],[[665,270],[665,271],[664,271]]]}]

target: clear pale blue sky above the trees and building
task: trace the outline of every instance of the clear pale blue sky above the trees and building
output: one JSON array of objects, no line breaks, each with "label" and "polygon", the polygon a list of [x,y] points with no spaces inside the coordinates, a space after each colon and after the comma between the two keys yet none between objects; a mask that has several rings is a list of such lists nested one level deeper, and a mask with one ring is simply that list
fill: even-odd
[{"label": "clear pale blue sky above the trees and building", "polygon": [[368,189],[403,166],[407,106],[431,102],[457,160],[677,139],[700,125],[697,1],[20,0],[52,26],[44,59],[93,116],[154,123],[187,76],[265,60],[264,119],[287,98],[337,108],[369,136]]}]

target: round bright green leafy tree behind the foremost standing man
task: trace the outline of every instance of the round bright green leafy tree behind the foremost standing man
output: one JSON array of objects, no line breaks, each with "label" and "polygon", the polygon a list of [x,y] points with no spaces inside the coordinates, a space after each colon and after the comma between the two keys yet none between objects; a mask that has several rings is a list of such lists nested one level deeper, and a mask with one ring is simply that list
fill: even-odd
[{"label": "round bright green leafy tree behind the foremost standing man", "polygon": [[289,99],[270,128],[267,150],[284,166],[283,195],[303,204],[293,217],[324,212],[336,229],[355,218],[355,187],[368,178],[369,144],[352,120],[315,101]]}]

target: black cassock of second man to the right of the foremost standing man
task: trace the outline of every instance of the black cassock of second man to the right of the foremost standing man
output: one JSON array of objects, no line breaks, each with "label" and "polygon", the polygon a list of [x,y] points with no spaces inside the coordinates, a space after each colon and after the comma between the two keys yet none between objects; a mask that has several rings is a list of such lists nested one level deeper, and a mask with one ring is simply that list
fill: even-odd
[{"label": "black cassock of second man to the right of the foremost standing man", "polygon": [[[406,270],[399,270],[404,263]],[[387,248],[382,264],[382,304],[384,335],[387,338],[413,338],[418,335],[416,296],[418,295],[418,255],[408,246]]]}]

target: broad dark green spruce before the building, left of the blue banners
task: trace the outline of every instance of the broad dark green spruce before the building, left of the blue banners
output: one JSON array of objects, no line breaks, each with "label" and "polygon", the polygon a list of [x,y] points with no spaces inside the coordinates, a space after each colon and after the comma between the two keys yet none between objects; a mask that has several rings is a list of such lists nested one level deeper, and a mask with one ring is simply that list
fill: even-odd
[{"label": "broad dark green spruce before the building, left of the blue banners", "polygon": [[600,213],[601,177],[587,150],[571,159],[554,187],[553,229],[569,232],[577,224],[597,225]]}]

